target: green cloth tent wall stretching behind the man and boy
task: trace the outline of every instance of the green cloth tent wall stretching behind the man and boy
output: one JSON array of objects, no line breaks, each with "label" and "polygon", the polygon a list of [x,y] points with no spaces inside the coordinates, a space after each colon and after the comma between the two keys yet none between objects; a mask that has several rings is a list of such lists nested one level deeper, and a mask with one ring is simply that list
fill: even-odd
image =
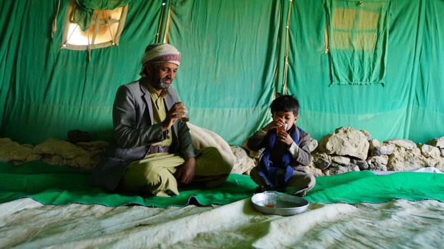
[{"label": "green cloth tent wall stretching behind the man and boy", "polygon": [[[91,50],[90,61],[86,51],[60,49],[66,0],[51,38],[57,2],[0,3],[0,136],[35,144],[81,129],[108,140],[115,91],[138,79],[143,49],[156,38],[161,0],[132,0],[119,45]],[[267,122],[267,106],[282,91],[289,4],[167,2],[168,39],[182,51],[173,84],[192,123],[240,144]],[[365,86],[331,85],[322,0],[291,5],[287,88],[300,100],[304,130],[316,139],[340,126],[379,140],[444,135],[444,1],[391,1],[385,84]]]}]

